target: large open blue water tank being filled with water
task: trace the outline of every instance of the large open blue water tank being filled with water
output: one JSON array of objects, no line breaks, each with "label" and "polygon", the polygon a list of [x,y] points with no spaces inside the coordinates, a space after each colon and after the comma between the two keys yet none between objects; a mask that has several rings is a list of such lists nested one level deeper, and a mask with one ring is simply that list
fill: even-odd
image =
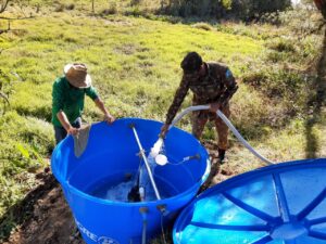
[{"label": "large open blue water tank being filled with water", "polygon": [[[109,126],[91,126],[86,151],[74,153],[74,140],[67,137],[54,150],[51,167],[72,209],[86,243],[129,244],[150,240],[173,223],[179,210],[196,196],[210,171],[205,149],[191,134],[173,128],[165,140],[171,164],[156,166],[154,179],[165,198],[152,202],[116,202],[93,195],[101,185],[115,185],[135,176],[139,169],[139,147],[135,126],[147,151],[156,142],[162,123],[123,118]],[[198,155],[184,164],[184,157]]]}]

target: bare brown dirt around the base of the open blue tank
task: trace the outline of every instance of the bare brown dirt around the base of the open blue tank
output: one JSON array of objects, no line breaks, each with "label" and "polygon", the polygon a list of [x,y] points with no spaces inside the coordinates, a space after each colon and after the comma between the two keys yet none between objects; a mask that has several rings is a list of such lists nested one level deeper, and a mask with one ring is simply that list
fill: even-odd
[{"label": "bare brown dirt around the base of the open blue tank", "polygon": [[[216,145],[205,143],[205,146],[211,157],[215,158]],[[211,185],[233,176],[231,171],[221,170],[217,163],[213,165]],[[83,244],[61,188],[50,170],[38,174],[37,178],[40,184],[14,209],[20,226],[4,244]],[[20,220],[18,216],[23,213],[25,216],[29,214]]]}]

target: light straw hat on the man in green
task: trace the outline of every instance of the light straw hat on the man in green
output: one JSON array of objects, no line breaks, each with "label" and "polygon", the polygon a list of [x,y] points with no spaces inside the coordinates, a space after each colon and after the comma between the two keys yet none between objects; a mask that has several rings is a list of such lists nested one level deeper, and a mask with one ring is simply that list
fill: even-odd
[{"label": "light straw hat on the man in green", "polygon": [[71,85],[76,88],[88,88],[91,85],[90,75],[87,74],[85,64],[67,64],[64,66],[64,75]]}]

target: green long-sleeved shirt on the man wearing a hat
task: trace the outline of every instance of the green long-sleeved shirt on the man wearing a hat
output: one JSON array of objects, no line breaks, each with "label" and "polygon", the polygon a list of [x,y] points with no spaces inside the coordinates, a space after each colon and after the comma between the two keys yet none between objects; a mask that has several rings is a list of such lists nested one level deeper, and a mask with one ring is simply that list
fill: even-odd
[{"label": "green long-sleeved shirt on the man wearing a hat", "polygon": [[60,111],[65,113],[70,123],[73,123],[76,118],[80,117],[84,110],[85,94],[92,100],[96,100],[99,97],[92,86],[78,89],[70,85],[64,76],[58,78],[53,84],[52,90],[52,124],[62,127],[57,117],[57,114]]}]

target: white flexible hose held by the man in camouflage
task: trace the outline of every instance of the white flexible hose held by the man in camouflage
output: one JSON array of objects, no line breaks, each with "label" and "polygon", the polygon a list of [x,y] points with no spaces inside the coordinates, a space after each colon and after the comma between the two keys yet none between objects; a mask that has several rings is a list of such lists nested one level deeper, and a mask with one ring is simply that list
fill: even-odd
[{"label": "white flexible hose held by the man in camouflage", "polygon": [[[193,111],[203,111],[203,110],[210,110],[210,105],[198,105],[198,106],[189,106],[186,110],[184,110],[175,119],[173,119],[171,126],[168,129],[171,129],[178,120],[181,119],[186,114]],[[236,138],[256,157],[259,157],[261,160],[265,162],[268,165],[275,164],[274,162],[263,157],[261,154],[259,154],[239,133],[239,131],[234,127],[234,125],[228,120],[228,118],[220,111],[216,112],[217,116],[227,125],[227,127],[234,132]]]}]

